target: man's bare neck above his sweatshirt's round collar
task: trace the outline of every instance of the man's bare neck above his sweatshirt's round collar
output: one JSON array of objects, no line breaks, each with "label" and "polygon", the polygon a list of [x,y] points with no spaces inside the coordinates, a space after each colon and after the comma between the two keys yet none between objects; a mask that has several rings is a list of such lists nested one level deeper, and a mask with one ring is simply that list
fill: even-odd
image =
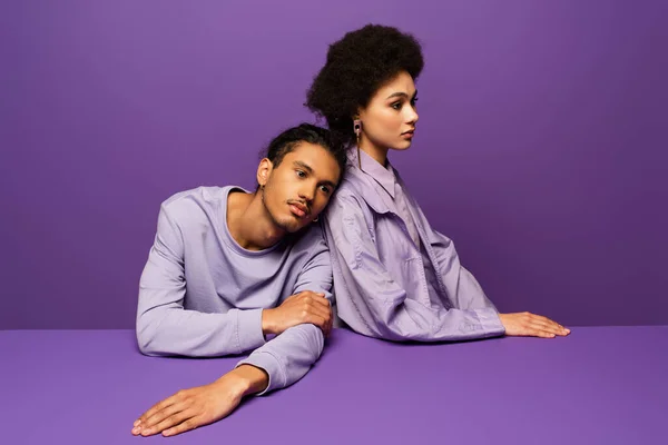
[{"label": "man's bare neck above his sweatshirt's round collar", "polygon": [[232,191],[227,196],[226,222],[229,235],[246,250],[264,250],[285,236],[285,230],[269,218],[259,191]]}]

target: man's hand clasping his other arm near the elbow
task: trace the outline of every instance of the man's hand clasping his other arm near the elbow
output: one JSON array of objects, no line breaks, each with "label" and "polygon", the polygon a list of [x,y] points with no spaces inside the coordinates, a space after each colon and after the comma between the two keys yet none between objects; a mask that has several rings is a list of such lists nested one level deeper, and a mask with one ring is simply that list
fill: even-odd
[{"label": "man's hand clasping his other arm near the elbow", "polygon": [[296,325],[305,323],[320,327],[330,335],[332,329],[332,306],[325,294],[304,290],[288,297],[283,304],[273,309],[262,312],[263,334],[278,335]]}]

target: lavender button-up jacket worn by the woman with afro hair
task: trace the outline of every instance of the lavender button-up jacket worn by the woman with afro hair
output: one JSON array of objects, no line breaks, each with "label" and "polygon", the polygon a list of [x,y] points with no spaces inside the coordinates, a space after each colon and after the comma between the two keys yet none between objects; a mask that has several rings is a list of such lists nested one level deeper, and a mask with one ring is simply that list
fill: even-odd
[{"label": "lavender button-up jacket worn by the woman with afro hair", "polygon": [[[356,151],[348,151],[345,178],[323,218],[341,319],[357,333],[392,340],[503,335],[494,305],[460,265],[452,240],[430,226],[406,192],[416,246],[395,201],[365,171],[380,164],[362,151],[360,169]],[[403,186],[397,174],[396,181]]]}]

